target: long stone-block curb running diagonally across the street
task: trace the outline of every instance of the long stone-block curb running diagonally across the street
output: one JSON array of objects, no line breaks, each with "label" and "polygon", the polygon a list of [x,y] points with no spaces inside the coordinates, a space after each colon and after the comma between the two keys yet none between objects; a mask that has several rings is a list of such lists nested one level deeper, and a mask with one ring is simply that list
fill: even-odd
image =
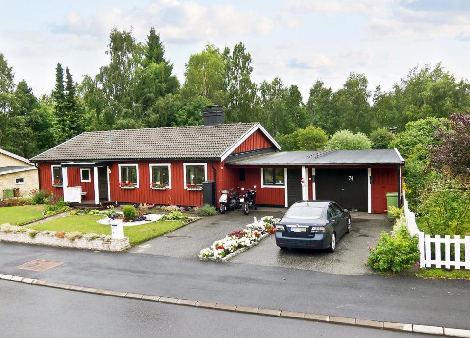
[{"label": "long stone-block curb running diagonally across the street", "polygon": [[450,336],[450,337],[469,337],[470,330],[464,329],[454,329],[447,328],[442,326],[430,326],[430,325],[420,325],[412,323],[394,323],[394,322],[383,322],[362,318],[349,318],[349,317],[336,317],[328,316],[324,314],[311,314],[305,312],[295,312],[289,310],[278,310],[278,309],[267,309],[267,308],[257,308],[251,306],[242,306],[242,305],[228,305],[223,303],[213,303],[200,300],[189,300],[189,299],[178,299],[172,297],[164,296],[154,296],[154,295],[143,295],[143,294],[134,294],[128,293],[125,291],[111,291],[111,290],[102,290],[95,289],[87,286],[78,286],[78,285],[68,285],[55,282],[48,282],[40,279],[24,278],[21,276],[14,275],[3,275],[0,274],[0,280],[6,280],[17,283],[25,283],[37,286],[46,286],[54,289],[62,289],[68,291],[82,292],[88,294],[95,294],[101,296],[115,296],[123,299],[134,299],[134,300],[144,300],[144,301],[153,301],[160,303],[168,303],[181,306],[190,306],[190,307],[199,307],[211,310],[218,311],[230,311],[238,312],[250,315],[258,316],[268,316],[268,317],[282,317],[289,319],[305,320],[305,321],[318,321],[318,322],[329,322],[332,324],[340,325],[352,325],[360,327],[369,327],[373,329],[381,330],[392,330],[392,331],[403,331],[403,332],[416,332],[416,333],[426,333],[432,335],[440,336]]}]

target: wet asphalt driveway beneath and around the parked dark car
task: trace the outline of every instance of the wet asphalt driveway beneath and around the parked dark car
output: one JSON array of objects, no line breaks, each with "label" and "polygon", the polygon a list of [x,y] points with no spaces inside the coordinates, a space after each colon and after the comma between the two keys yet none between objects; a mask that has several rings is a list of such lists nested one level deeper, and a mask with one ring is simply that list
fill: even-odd
[{"label": "wet asphalt driveway beneath and around the parked dark car", "polygon": [[[360,218],[359,218],[360,217]],[[367,247],[375,246],[380,232],[390,231],[393,223],[383,215],[352,213],[352,231],[337,243],[336,251],[281,250],[274,236],[269,236],[257,246],[235,256],[232,263],[257,264],[325,272],[329,274],[362,275],[372,270],[364,263],[369,256]]]}]

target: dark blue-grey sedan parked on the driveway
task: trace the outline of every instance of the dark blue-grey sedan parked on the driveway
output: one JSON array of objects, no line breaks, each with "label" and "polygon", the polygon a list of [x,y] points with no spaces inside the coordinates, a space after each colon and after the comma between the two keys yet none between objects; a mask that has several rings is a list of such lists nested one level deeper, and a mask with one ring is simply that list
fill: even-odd
[{"label": "dark blue-grey sedan parked on the driveway", "polygon": [[351,231],[351,215],[333,201],[294,203],[276,225],[280,248],[336,249],[336,242]]}]

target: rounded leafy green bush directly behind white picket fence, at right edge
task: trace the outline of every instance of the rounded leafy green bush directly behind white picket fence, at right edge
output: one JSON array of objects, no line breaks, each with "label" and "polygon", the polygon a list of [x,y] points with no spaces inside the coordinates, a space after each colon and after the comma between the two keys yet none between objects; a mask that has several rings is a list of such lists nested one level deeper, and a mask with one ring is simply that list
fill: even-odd
[{"label": "rounded leafy green bush directly behind white picket fence, at right edge", "polygon": [[417,223],[431,235],[470,232],[470,188],[450,175],[431,180],[418,198]]}]

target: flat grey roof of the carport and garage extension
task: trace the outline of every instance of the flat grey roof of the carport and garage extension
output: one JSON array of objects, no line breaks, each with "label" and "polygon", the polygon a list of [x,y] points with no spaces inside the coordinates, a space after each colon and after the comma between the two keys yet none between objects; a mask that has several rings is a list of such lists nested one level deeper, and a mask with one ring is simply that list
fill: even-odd
[{"label": "flat grey roof of the carport and garage extension", "polygon": [[397,149],[277,151],[245,158],[227,159],[227,164],[243,166],[266,165],[403,165]]}]

